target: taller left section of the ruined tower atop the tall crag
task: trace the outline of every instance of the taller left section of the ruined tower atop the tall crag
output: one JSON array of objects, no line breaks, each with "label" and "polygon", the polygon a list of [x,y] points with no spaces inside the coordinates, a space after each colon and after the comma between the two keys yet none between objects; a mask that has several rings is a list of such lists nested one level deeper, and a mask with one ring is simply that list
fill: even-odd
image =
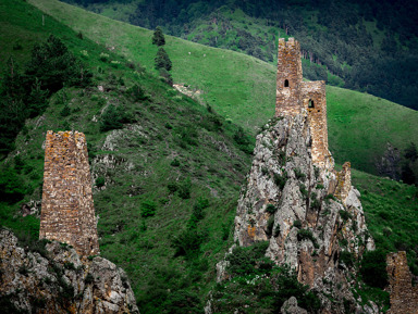
[{"label": "taller left section of the ruined tower atop the tall crag", "polygon": [[[285,80],[288,87],[285,87]],[[300,113],[302,62],[300,46],[294,38],[279,39],[275,115]]]}]

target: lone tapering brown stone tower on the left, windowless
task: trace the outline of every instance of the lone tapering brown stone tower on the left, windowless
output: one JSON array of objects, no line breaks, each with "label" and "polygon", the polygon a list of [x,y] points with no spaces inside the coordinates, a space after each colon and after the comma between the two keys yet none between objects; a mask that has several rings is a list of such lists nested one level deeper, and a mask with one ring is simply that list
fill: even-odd
[{"label": "lone tapering brown stone tower on the left, windowless", "polygon": [[47,133],[39,238],[99,253],[86,137],[78,131]]}]

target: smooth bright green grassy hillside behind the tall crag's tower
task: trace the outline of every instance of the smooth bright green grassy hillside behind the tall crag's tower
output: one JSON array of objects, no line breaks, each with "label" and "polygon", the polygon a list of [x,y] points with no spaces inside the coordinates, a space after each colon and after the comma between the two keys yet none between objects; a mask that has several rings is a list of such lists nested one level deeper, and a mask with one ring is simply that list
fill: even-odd
[{"label": "smooth bright green grassy hillside behind the tall crag's tower", "polygon": [[[29,0],[59,21],[127,59],[153,68],[152,33],[57,0]],[[256,131],[274,112],[274,66],[245,54],[167,37],[175,83],[204,91],[221,115]],[[339,163],[377,173],[386,142],[403,150],[418,142],[418,112],[370,95],[328,86],[330,149]],[[406,140],[407,139],[407,140]]]}]

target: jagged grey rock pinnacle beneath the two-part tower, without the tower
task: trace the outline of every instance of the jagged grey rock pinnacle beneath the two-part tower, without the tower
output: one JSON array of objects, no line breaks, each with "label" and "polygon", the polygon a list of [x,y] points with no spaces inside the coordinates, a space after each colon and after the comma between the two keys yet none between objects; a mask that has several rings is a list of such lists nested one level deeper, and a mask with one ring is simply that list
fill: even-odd
[{"label": "jagged grey rock pinnacle beneath the two-part tower, without the tower", "polygon": [[349,164],[337,173],[333,161],[324,167],[312,163],[306,113],[274,120],[257,137],[235,217],[239,246],[269,241],[267,256],[320,291],[324,313],[344,313],[343,302],[331,304],[330,298],[356,303],[346,275],[374,247],[347,174]]}]

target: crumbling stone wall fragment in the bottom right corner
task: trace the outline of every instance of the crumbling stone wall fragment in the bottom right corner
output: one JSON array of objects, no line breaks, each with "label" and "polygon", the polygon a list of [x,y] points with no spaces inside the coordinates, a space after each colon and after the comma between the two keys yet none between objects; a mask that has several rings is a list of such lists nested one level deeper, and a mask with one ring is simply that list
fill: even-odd
[{"label": "crumbling stone wall fragment in the bottom right corner", "polygon": [[389,314],[418,313],[418,286],[413,286],[406,252],[390,253],[386,256],[391,310]]}]

